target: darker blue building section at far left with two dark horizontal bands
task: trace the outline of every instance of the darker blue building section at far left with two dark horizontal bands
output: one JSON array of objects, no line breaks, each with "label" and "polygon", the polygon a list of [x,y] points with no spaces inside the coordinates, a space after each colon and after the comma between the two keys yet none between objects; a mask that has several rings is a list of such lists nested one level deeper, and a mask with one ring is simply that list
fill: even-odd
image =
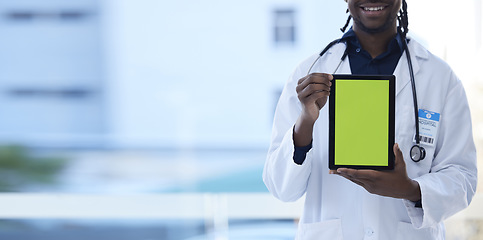
[{"label": "darker blue building section at far left with two dark horizontal bands", "polygon": [[2,142],[69,146],[106,133],[97,5],[0,1]]}]

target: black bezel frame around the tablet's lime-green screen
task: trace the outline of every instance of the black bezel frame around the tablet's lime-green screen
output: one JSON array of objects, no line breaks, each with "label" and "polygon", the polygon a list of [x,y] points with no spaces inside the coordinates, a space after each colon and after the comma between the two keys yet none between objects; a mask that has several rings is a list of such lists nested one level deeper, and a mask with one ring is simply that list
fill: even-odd
[{"label": "black bezel frame around the tablet's lime-green screen", "polygon": [[[394,136],[395,136],[395,108],[396,108],[396,77],[394,75],[350,75],[334,74],[329,95],[329,169],[338,168],[393,170],[394,169]],[[388,165],[336,165],[335,164],[335,90],[338,80],[386,80],[389,81],[389,135],[388,135]]]}]

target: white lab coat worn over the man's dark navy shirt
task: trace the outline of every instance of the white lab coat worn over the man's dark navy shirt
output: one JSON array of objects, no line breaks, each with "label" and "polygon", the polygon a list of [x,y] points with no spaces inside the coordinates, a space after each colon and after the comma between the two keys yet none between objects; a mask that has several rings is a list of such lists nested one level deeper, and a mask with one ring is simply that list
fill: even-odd
[{"label": "white lab coat worn over the man's dark navy shirt", "polygon": [[[305,162],[293,162],[293,126],[301,112],[295,90],[314,55],[298,66],[287,81],[274,119],[272,142],[263,172],[269,191],[282,201],[305,194],[296,239],[444,239],[443,220],[470,203],[477,183],[476,149],[466,94],[450,67],[415,40],[409,43],[420,109],[440,113],[434,147],[425,146],[419,163],[409,157],[415,135],[413,98],[405,53],[395,69],[396,142],[411,179],[419,183],[422,208],[414,203],[368,193],[349,180],[329,174],[328,104],[314,127],[313,148]],[[345,44],[333,46],[312,72],[333,73]],[[350,73],[348,57],[337,73]],[[370,94],[370,93],[368,93]]]}]

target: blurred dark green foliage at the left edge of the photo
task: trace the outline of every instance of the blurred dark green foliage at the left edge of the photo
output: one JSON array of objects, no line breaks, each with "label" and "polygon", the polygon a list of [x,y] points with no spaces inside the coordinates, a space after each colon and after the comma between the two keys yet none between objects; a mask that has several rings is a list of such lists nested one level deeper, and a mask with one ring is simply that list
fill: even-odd
[{"label": "blurred dark green foliage at the left edge of the photo", "polygon": [[34,156],[23,146],[0,146],[0,192],[54,184],[65,163],[63,158]]}]

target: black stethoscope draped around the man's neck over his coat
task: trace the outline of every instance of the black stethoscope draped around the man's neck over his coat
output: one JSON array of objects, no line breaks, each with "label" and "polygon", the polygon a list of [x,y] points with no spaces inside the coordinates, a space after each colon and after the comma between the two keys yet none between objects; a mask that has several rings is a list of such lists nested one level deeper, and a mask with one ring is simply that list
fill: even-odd
[{"label": "black stethoscope draped around the man's neck over his coat", "polygon": [[[399,30],[398,30],[399,31]],[[309,68],[309,71],[307,72],[307,75],[310,74],[310,71],[312,70],[312,67],[315,65],[315,63],[317,63],[317,61],[332,47],[334,46],[335,44],[337,43],[340,43],[342,42],[343,40],[342,39],[336,39],[332,42],[330,42],[329,44],[327,44],[327,46],[324,48],[324,50],[322,50],[322,52],[320,52],[319,56],[315,59],[315,61],[312,63],[312,65],[310,66]],[[424,159],[424,157],[426,157],[426,150],[424,149],[424,147],[420,146],[420,135],[419,135],[419,118],[418,118],[418,99],[417,99],[417,96],[416,96],[416,82],[414,81],[414,71],[413,71],[413,64],[411,62],[411,56],[409,54],[409,48],[408,48],[408,44],[407,44],[407,40],[406,38],[403,39],[403,46],[404,46],[404,50],[406,51],[406,57],[407,57],[407,61],[408,61],[408,67],[409,67],[409,75],[411,77],[411,86],[412,86],[412,92],[413,92],[413,103],[414,103],[414,123],[416,125],[416,144],[413,145],[411,147],[411,150],[409,152],[409,155],[411,156],[411,159],[414,161],[414,162],[419,162],[421,160]],[[348,55],[348,48],[347,48],[347,43],[346,43],[346,49],[344,51],[344,54],[342,55],[342,57],[340,58],[340,62],[339,64],[337,65],[335,71],[334,71],[334,74],[337,72],[337,70],[339,69],[340,65],[342,64],[342,62],[344,62],[345,58],[347,57]]]}]

